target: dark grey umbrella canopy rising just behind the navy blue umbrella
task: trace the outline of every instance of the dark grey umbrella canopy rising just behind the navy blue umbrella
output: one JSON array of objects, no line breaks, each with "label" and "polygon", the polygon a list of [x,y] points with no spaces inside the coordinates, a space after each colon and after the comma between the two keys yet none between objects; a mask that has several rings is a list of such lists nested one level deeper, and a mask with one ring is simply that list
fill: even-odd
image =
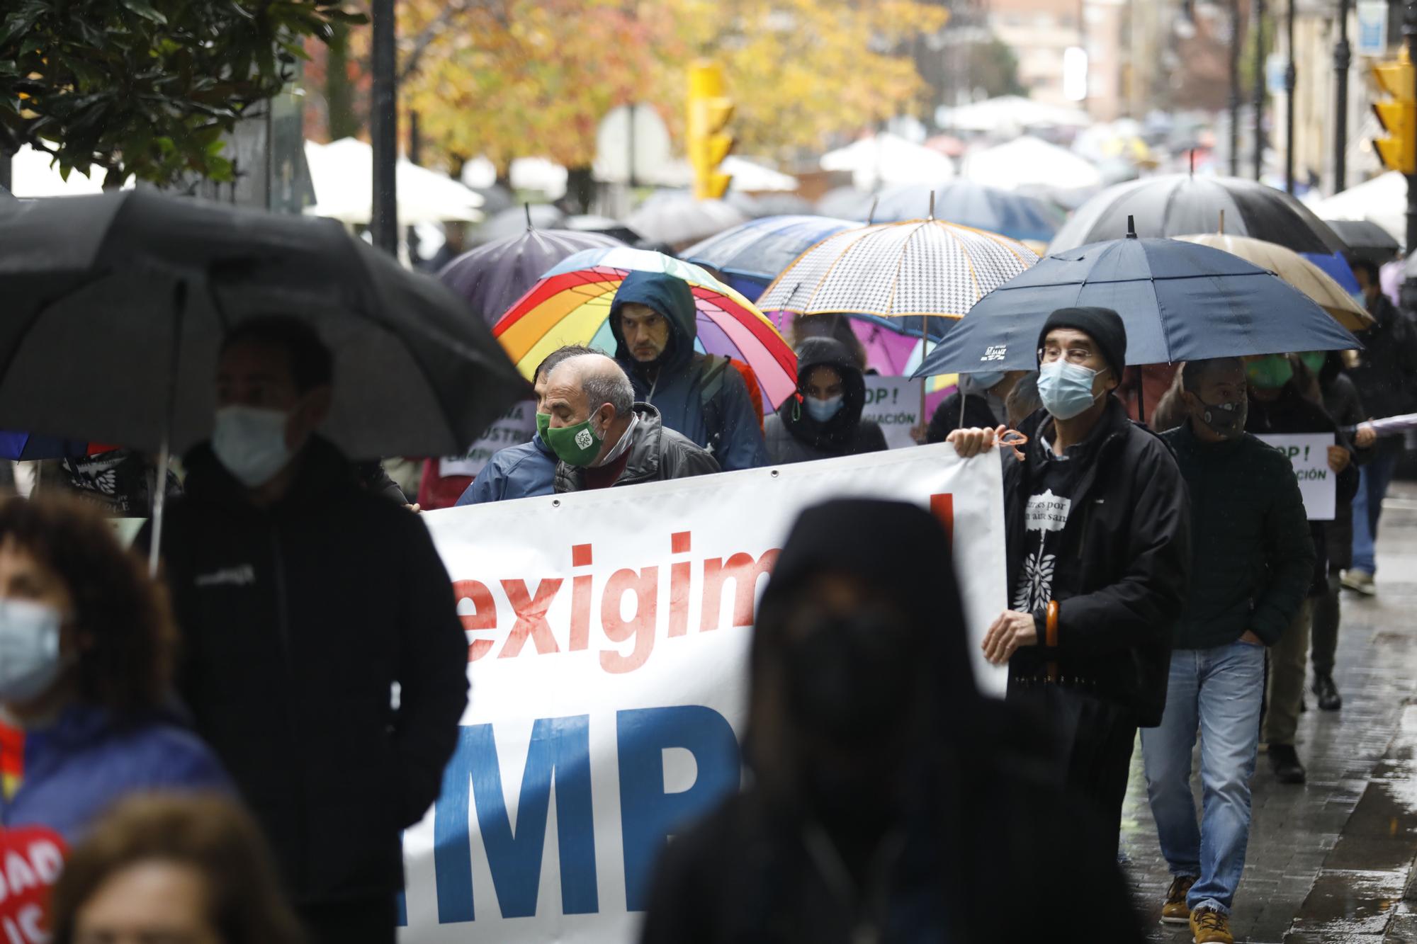
[{"label": "dark grey umbrella canopy rising just behind the navy blue umbrella", "polygon": [[1304,204],[1274,187],[1238,177],[1163,174],[1108,187],[1078,207],[1049,244],[1049,252],[1127,235],[1178,237],[1224,231],[1278,242],[1295,252],[1343,252],[1348,247]]}]

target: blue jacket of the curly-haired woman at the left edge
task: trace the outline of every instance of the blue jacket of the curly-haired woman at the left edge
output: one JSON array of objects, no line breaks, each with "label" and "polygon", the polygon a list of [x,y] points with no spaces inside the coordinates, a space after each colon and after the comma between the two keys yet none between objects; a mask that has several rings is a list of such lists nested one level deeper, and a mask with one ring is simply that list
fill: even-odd
[{"label": "blue jacket of the curly-haired woman at the left edge", "polygon": [[217,755],[191,731],[157,717],[120,724],[92,704],[74,704],[51,727],[26,731],[23,778],[16,795],[0,801],[0,825],[48,826],[68,843],[128,794],[232,792]]}]

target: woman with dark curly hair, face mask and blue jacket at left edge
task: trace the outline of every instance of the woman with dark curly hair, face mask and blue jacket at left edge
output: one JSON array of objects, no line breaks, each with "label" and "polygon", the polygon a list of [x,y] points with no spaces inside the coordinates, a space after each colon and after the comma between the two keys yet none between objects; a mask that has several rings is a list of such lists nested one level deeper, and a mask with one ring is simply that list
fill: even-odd
[{"label": "woman with dark curly hair, face mask and blue jacket at left edge", "polygon": [[[228,790],[215,755],[166,720],[176,631],[166,595],[95,512],[0,503],[0,720],[17,729],[0,825],[67,841],[125,794]],[[11,748],[16,750],[16,748]]]}]

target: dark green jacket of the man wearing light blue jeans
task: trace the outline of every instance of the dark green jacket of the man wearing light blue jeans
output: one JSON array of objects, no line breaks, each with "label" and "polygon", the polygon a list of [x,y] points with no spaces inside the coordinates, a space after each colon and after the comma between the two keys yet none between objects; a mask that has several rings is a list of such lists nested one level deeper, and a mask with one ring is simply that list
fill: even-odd
[{"label": "dark green jacket of the man wearing light blue jeans", "polygon": [[1274,645],[1314,575],[1294,466],[1250,434],[1202,442],[1187,421],[1162,438],[1190,489],[1190,592],[1173,648],[1229,645],[1246,629]]}]

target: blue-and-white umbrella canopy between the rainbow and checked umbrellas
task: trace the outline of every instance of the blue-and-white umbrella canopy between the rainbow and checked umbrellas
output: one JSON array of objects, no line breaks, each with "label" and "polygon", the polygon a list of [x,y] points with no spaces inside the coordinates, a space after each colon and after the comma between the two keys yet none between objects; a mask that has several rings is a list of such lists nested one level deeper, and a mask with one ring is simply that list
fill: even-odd
[{"label": "blue-and-white umbrella canopy between the rainbow and checked umbrellas", "polygon": [[764,217],[708,237],[679,255],[714,269],[728,285],[755,299],[806,249],[856,225],[829,217]]}]

